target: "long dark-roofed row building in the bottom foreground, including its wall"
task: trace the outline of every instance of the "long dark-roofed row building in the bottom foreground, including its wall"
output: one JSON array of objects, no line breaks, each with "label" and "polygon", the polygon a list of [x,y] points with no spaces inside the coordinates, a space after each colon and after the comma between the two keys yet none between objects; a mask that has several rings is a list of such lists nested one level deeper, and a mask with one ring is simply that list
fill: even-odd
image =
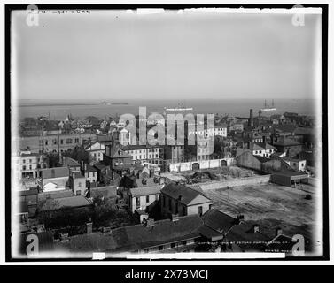
[{"label": "long dark-roofed row building in the bottom foreground, including its wall", "polygon": [[57,243],[57,250],[66,252],[105,252],[106,256],[122,253],[175,253],[193,252],[197,232],[203,225],[198,215],[154,221],[144,224],[123,226],[107,233],[86,233],[69,237]]}]

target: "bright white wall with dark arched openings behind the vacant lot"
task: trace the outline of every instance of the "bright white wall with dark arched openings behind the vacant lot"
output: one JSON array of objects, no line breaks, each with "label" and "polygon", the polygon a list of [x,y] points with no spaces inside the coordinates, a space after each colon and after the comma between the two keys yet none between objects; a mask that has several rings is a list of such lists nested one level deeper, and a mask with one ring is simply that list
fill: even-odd
[{"label": "bright white wall with dark arched openings behind the vacant lot", "polygon": [[222,158],[213,160],[202,160],[202,161],[191,161],[191,162],[180,162],[169,164],[170,172],[184,172],[191,171],[193,164],[198,164],[199,169],[218,168],[221,167],[221,161],[226,161],[228,166],[235,164],[235,158]]}]

